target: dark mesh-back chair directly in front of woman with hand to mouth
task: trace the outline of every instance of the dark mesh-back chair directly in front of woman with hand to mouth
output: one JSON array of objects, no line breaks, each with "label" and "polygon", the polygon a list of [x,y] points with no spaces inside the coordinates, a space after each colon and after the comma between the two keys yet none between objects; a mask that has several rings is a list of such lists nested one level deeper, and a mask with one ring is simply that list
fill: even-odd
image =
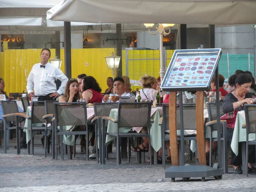
[{"label": "dark mesh-back chair directly in front of woman with hand to mouth", "polygon": [[[86,135],[86,160],[89,158],[88,143],[89,143],[89,131],[88,131],[88,119],[86,103],[84,102],[72,102],[72,103],[54,103],[55,105],[55,127],[59,126],[59,131],[55,130],[55,140],[57,135],[60,135],[61,145],[61,158],[64,159],[63,152],[63,135]],[[84,125],[85,131],[66,131],[63,130],[63,126],[67,125]],[[67,150],[68,158],[72,159],[71,146]],[[55,156],[58,160],[57,145],[55,145]]]}]

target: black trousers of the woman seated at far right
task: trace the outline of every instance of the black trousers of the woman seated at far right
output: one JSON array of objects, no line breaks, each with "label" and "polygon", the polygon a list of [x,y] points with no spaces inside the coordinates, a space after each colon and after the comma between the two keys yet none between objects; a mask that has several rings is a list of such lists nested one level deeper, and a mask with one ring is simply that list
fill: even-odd
[{"label": "black trousers of the woman seated at far right", "polygon": [[[231,145],[234,129],[227,128],[227,140]],[[231,147],[230,147],[231,148]],[[249,145],[248,147],[248,163],[255,163],[255,145]],[[231,149],[231,161],[230,164],[233,166],[242,165],[242,144],[238,143],[238,155],[234,154]]]}]

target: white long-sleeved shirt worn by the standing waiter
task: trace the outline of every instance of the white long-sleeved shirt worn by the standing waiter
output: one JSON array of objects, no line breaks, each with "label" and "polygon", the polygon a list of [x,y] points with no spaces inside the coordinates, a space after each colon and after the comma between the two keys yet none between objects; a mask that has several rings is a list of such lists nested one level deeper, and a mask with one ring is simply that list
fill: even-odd
[{"label": "white long-sleeved shirt worn by the standing waiter", "polygon": [[[46,96],[49,93],[56,92],[61,95],[64,93],[67,84],[67,77],[62,71],[52,66],[49,62],[44,67],[40,67],[41,63],[37,63],[32,67],[27,79],[26,89],[28,93],[33,92],[35,96]],[[61,86],[57,90],[55,80],[61,81]]]}]

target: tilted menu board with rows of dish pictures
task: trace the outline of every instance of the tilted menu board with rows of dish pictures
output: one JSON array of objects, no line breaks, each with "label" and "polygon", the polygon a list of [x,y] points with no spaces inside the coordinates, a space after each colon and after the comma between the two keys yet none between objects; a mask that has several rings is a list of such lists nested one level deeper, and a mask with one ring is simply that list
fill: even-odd
[{"label": "tilted menu board with rows of dish pictures", "polygon": [[207,90],[218,61],[221,49],[175,50],[161,88],[163,90]]}]

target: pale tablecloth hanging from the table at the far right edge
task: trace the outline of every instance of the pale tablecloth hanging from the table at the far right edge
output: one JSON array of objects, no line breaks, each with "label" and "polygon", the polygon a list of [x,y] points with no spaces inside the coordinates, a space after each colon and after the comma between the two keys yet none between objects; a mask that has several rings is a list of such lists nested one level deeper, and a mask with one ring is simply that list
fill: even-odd
[{"label": "pale tablecloth hanging from the table at the far right edge", "polygon": [[[231,142],[232,151],[238,155],[238,143],[246,141],[246,129],[242,128],[245,123],[245,113],[244,111],[239,111],[236,116],[236,124],[234,127],[234,133]],[[256,139],[256,134],[249,134],[249,141]]]}]

